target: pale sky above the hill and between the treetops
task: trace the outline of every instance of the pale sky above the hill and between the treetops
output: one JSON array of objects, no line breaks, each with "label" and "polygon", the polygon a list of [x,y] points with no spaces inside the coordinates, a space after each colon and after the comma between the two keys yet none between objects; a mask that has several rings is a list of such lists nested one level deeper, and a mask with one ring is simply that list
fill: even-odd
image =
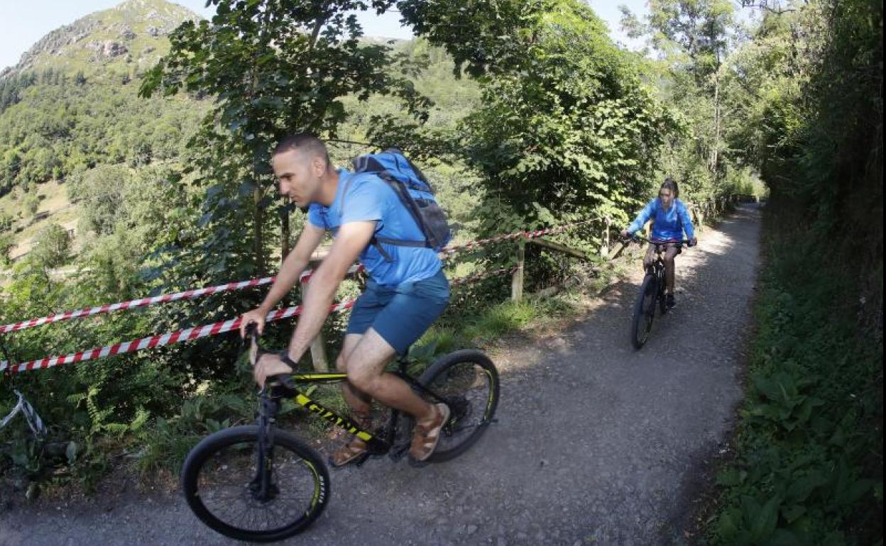
[{"label": "pale sky above the hill and between the treetops", "polygon": [[[84,15],[112,8],[121,0],[0,0],[0,70],[19,62],[21,54],[44,35],[58,27],[73,23]],[[214,8],[206,8],[206,0],[175,0],[193,12],[208,18]],[[610,35],[617,42],[638,45],[619,30],[618,4],[626,4],[635,13],[646,12],[646,0],[588,0],[588,4],[610,27]],[[361,13],[363,31],[370,36],[391,38],[412,37],[408,29],[400,27],[400,16],[388,12],[379,17],[374,13]]]}]

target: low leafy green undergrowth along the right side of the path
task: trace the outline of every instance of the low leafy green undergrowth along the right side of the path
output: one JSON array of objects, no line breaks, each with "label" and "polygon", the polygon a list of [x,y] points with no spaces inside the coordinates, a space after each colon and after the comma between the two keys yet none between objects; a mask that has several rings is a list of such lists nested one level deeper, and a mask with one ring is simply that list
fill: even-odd
[{"label": "low leafy green undergrowth along the right side of the path", "polygon": [[736,459],[717,477],[713,542],[872,544],[882,533],[882,345],[859,328],[852,268],[810,259],[820,242],[784,235],[790,222],[766,216],[758,332]]}]

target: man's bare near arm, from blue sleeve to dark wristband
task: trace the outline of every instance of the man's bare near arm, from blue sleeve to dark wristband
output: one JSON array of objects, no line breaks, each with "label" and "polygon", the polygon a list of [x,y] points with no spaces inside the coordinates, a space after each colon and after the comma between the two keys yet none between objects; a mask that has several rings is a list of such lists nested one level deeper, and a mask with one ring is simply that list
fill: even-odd
[{"label": "man's bare near arm, from blue sleeve to dark wristband", "polygon": [[369,244],[376,230],[376,221],[348,222],[338,229],[338,236],[323,263],[311,277],[299,324],[289,342],[289,358],[298,362],[329,315],[332,298],[347,270]]}]

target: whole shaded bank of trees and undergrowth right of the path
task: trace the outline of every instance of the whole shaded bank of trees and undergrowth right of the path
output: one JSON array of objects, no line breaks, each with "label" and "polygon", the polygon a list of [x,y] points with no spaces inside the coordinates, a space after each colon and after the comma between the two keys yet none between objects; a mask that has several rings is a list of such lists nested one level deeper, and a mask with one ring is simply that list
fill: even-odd
[{"label": "whole shaded bank of trees and undergrowth right of the path", "polygon": [[772,191],[717,544],[882,544],[882,3],[768,5],[734,147]]}]

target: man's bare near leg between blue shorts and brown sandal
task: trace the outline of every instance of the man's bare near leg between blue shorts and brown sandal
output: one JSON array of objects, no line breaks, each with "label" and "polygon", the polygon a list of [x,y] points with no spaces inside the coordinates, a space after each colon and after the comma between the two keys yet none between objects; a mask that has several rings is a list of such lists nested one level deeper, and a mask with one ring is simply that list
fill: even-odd
[{"label": "man's bare near leg between blue shorts and brown sandal", "polygon": [[375,329],[369,328],[346,356],[347,381],[355,390],[412,415],[419,425],[430,425],[437,418],[434,406],[416,395],[406,381],[385,372],[385,365],[396,352]]}]

